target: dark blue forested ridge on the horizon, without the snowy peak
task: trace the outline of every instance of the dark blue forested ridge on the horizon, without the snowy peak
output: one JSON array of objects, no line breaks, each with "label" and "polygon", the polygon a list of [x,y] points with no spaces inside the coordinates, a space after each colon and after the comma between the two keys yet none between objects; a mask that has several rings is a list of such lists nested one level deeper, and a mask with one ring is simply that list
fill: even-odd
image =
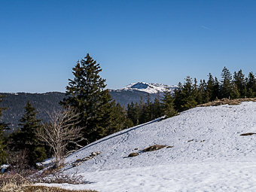
[{"label": "dark blue forested ridge on the horizon, without the snowy peak", "polygon": [[[139,90],[110,90],[110,94],[120,105],[127,105],[131,102],[139,103],[141,96],[143,99],[146,99],[148,93]],[[61,109],[59,102],[65,97],[65,93],[60,92],[0,93],[0,95],[5,96],[0,103],[1,107],[7,108],[5,111],[2,111],[2,120],[6,123],[11,123],[9,125],[11,129],[17,127],[20,118],[23,117],[26,102],[30,101],[36,108],[38,119],[47,121],[47,111],[51,112],[53,109]],[[151,99],[156,97],[157,94],[151,94]]]}]

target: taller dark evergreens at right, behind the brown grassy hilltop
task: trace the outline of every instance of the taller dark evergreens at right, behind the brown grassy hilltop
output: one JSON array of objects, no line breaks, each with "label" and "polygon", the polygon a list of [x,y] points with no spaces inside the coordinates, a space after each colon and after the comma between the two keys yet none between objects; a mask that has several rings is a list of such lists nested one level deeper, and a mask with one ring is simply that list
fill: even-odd
[{"label": "taller dark evergreens at right, behind the brown grassy hilltop", "polygon": [[221,72],[221,81],[209,74],[207,81],[187,77],[184,84],[179,83],[178,89],[173,95],[174,107],[177,111],[194,108],[197,105],[213,101],[215,99],[239,99],[256,96],[256,80],[252,72],[248,78],[242,73],[230,71],[224,67]]}]

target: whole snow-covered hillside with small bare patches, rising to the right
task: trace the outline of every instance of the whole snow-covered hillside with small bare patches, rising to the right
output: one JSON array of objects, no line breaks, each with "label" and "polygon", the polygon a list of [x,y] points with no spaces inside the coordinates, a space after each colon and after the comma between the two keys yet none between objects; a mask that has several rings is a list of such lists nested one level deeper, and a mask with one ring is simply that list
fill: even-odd
[{"label": "whole snow-covered hillside with small bare patches, rising to the right", "polygon": [[[256,102],[193,108],[76,151],[66,158],[64,173],[77,173],[92,183],[60,185],[103,192],[256,191],[256,135],[242,133],[256,133]],[[156,144],[173,148],[127,157]],[[102,153],[72,166],[95,151]]]}]

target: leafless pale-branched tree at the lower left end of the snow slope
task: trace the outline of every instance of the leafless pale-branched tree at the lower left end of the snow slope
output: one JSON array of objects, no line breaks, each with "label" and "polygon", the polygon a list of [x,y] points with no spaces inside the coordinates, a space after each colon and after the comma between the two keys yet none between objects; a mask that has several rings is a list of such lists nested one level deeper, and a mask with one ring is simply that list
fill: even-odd
[{"label": "leafless pale-branched tree at the lower left end of the snow slope", "polygon": [[[71,151],[67,151],[67,145],[73,143],[79,147],[81,142],[82,127],[76,126],[79,115],[72,108],[66,108],[63,111],[53,111],[48,114],[50,123],[44,123],[38,130],[36,135],[41,142],[46,142],[53,150],[53,165],[61,166],[64,163],[66,155]],[[78,141],[78,139],[80,139]]]}]

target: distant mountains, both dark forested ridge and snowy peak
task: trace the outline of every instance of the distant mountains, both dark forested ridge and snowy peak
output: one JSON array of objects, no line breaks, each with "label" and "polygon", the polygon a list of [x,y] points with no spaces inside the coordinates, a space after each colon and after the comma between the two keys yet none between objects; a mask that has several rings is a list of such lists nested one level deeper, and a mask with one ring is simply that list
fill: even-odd
[{"label": "distant mountains, both dark forested ridge and snowy peak", "polygon": [[[176,86],[164,84],[148,84],[139,82],[130,84],[120,90],[109,90],[113,99],[119,102],[120,105],[127,105],[131,102],[139,102],[141,97],[146,99],[150,94],[151,100],[154,100],[159,93],[163,96],[165,90],[173,93]],[[1,107],[8,108],[2,113],[2,120],[5,123],[10,123],[10,127],[15,129],[18,126],[19,120],[25,112],[26,102],[29,100],[38,111],[38,118],[47,121],[47,112],[58,110],[61,108],[59,101],[65,97],[65,93],[49,92],[49,93],[0,93],[5,98],[0,103]]]}]

